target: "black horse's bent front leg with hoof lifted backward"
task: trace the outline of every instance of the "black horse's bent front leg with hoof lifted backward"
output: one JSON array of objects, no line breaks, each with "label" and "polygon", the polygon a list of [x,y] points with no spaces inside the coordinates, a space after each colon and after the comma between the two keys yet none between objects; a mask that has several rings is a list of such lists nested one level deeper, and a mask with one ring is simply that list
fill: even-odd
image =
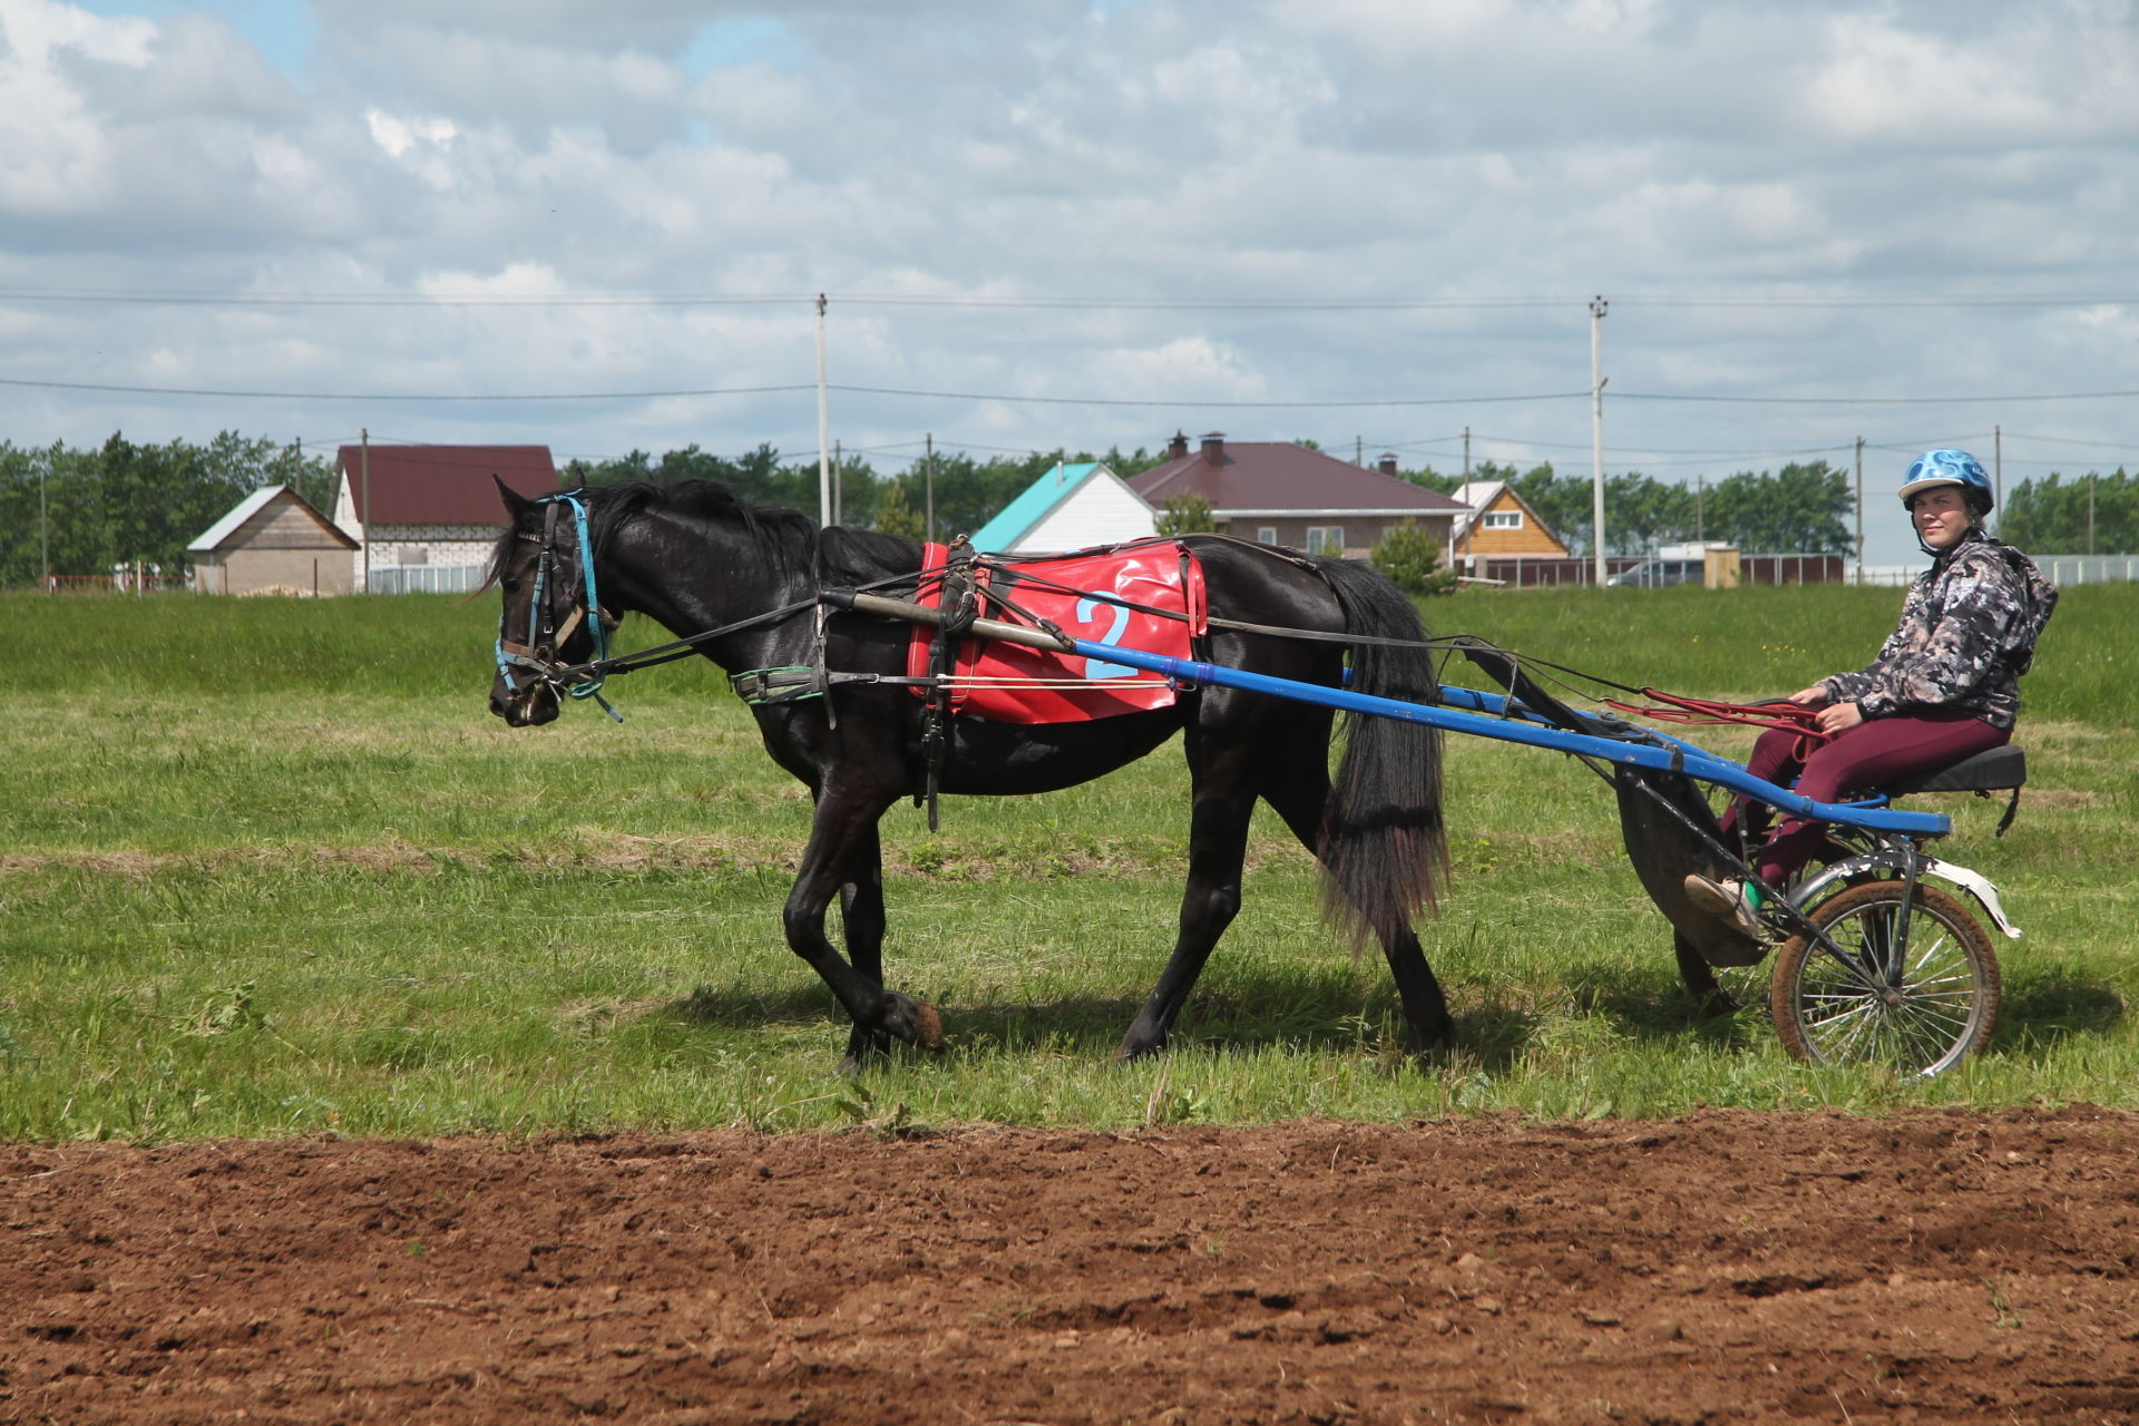
[{"label": "black horse's bent front leg with hoof lifted backward", "polygon": [[[851,797],[824,793],[817,797],[817,815],[811,823],[809,847],[802,851],[802,870],[787,894],[781,921],[787,932],[787,949],[809,962],[853,1022],[853,1043],[875,1043],[875,1037],[903,1039],[922,1050],[943,1045],[943,1022],[935,1007],[886,990],[881,983],[883,945],[883,889],[875,877],[866,881],[873,892],[845,894],[853,877],[856,857],[866,855],[877,840],[877,819],[890,806],[888,797]],[[832,941],[824,934],[824,917],[832,898],[843,900],[843,911],[860,906],[864,926],[875,921],[875,932],[864,936],[862,964],[849,964]],[[875,909],[871,913],[871,900]]]}]

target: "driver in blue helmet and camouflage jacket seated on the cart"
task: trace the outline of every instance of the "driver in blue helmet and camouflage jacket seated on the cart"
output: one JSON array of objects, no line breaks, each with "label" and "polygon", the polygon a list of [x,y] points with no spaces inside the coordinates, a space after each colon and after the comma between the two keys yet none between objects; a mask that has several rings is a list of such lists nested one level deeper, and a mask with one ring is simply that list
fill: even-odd
[{"label": "driver in blue helmet and camouflage jacket seated on the cart", "polygon": [[[2013,738],[2019,676],[2058,605],[2058,590],[2019,549],[1991,539],[1991,481],[1968,451],[1925,451],[1902,481],[1902,505],[1932,569],[1908,586],[1902,624],[1878,656],[1855,673],[1831,673],[1790,701],[1818,710],[1827,742],[1799,757],[1795,729],[1769,729],[1754,744],[1748,772],[1814,802],[1880,787],[1912,772],[1936,772]],[[1822,823],[1786,817],[1767,832],[1769,808],[1739,797],[1724,815],[1752,855],[1758,883],[1688,877],[1686,898],[1760,934],[1754,911],[1812,859]]]}]

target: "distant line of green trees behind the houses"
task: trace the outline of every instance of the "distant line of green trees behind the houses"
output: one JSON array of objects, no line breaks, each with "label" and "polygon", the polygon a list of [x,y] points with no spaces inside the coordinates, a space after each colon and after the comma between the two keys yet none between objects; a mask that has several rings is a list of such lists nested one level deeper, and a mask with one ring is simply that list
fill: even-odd
[{"label": "distant line of green trees behind the houses", "polygon": [[[1303,440],[1301,445],[1313,445]],[[922,539],[973,532],[1057,462],[1097,460],[1123,479],[1166,462],[1166,451],[1046,451],[975,458],[937,453],[898,472],[871,462],[836,462],[838,522]],[[1399,477],[1452,494],[1461,475],[1431,466]],[[712,479],[757,505],[817,513],[817,460],[783,460],[772,445],[717,455],[689,445],[663,455],[569,462],[565,485]],[[1591,483],[1551,464],[1519,470],[1482,464],[1472,479],[1504,479],[1570,547],[1591,549]],[[141,445],[113,434],[101,447],[0,443],[0,588],[36,586],[41,573],[107,575],[113,567],[186,567],[186,545],[261,485],[291,485],[334,513],[334,460],[293,445],[222,432],[210,443]],[[930,524],[933,509],[933,524]],[[1179,520],[1174,528],[1183,528]],[[1829,462],[1741,470],[1679,485],[1641,472],[1604,481],[1606,554],[1651,554],[1658,545],[1722,541],[1748,552],[1850,554],[1855,485]],[[2139,481],[2113,475],[2047,475],[2006,490],[1998,532],[2032,554],[2139,552]]]}]

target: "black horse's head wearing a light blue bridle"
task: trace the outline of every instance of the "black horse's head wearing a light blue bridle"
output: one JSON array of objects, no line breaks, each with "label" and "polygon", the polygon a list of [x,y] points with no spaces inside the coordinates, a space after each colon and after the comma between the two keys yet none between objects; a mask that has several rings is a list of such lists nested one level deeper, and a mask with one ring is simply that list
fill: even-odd
[{"label": "black horse's head wearing a light blue bridle", "polygon": [[[513,727],[537,727],[560,710],[565,684],[556,671],[601,658],[612,620],[588,599],[584,502],[573,496],[528,500],[505,481],[498,494],[509,520],[490,556],[490,577],[505,596],[490,712]],[[571,686],[580,688],[593,693],[599,680]]]}]

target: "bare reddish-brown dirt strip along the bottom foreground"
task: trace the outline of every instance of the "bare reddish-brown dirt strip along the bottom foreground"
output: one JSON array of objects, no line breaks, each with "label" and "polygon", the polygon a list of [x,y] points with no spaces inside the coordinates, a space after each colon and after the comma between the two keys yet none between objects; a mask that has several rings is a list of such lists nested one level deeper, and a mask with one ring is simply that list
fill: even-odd
[{"label": "bare reddish-brown dirt strip along the bottom foreground", "polygon": [[2124,1422],[2139,1116],[0,1148],[9,1422]]}]

